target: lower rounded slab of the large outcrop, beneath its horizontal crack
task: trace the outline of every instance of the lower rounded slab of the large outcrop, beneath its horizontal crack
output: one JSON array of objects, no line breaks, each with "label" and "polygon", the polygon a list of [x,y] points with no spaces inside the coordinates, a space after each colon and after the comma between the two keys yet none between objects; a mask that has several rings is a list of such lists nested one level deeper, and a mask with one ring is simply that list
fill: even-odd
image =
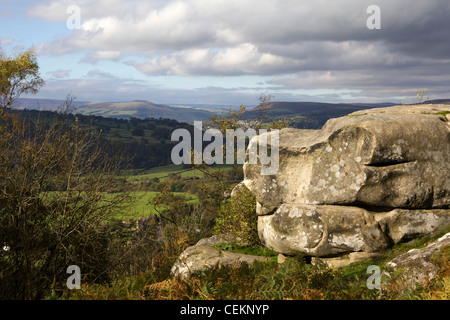
[{"label": "lower rounded slab of the large outcrop, beneath its horizontal crack", "polygon": [[258,231],[266,246],[283,254],[330,257],[378,252],[449,224],[448,211],[373,212],[350,206],[282,204],[275,214],[259,217]]}]

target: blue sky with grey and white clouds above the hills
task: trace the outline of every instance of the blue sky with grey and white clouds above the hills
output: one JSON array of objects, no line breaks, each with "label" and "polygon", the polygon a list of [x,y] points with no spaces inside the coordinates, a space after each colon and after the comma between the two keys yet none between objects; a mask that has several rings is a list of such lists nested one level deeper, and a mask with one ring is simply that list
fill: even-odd
[{"label": "blue sky with grey and white clouds above the hills", "polygon": [[36,98],[396,103],[450,98],[449,16],[448,0],[0,0],[0,47],[35,50]]}]

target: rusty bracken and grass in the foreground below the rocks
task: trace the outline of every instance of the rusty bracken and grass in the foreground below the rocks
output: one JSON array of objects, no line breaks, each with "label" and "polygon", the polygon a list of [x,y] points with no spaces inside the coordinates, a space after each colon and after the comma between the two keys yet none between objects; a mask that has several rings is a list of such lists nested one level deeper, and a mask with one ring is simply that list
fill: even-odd
[{"label": "rusty bracken and grass in the foreground below the rocks", "polygon": [[[113,300],[448,300],[450,294],[450,248],[436,255],[442,265],[439,276],[411,292],[398,283],[383,280],[382,290],[367,287],[367,267],[385,263],[411,248],[423,247],[439,235],[387,250],[381,259],[369,259],[339,269],[323,264],[308,264],[302,257],[288,257],[283,264],[267,262],[215,266],[196,272],[188,279],[172,277],[165,271],[150,270],[135,276],[118,277],[109,285],[83,284],[81,290],[67,292],[63,299]],[[275,252],[236,244],[216,246],[246,254],[274,257]],[[445,257],[444,257],[445,256]],[[386,281],[386,282],[385,282]]]}]

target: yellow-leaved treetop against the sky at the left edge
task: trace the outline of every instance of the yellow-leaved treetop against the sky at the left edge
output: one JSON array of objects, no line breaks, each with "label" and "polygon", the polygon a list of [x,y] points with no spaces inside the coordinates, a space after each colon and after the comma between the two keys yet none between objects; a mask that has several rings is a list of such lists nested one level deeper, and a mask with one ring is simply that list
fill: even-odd
[{"label": "yellow-leaved treetop against the sky at the left edge", "polygon": [[0,115],[22,94],[36,94],[43,85],[32,49],[12,57],[0,54]]}]

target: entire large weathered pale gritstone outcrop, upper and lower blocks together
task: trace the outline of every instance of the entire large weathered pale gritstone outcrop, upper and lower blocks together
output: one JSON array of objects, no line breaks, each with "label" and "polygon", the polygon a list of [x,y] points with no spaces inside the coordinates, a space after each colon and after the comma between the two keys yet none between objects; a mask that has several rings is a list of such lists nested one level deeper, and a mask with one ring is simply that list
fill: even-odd
[{"label": "entire large weathered pale gritstone outcrop, upper and lower blocks together", "polygon": [[327,257],[377,252],[449,225],[450,119],[442,111],[450,106],[371,109],[322,130],[281,130],[278,173],[244,165],[262,242]]}]

